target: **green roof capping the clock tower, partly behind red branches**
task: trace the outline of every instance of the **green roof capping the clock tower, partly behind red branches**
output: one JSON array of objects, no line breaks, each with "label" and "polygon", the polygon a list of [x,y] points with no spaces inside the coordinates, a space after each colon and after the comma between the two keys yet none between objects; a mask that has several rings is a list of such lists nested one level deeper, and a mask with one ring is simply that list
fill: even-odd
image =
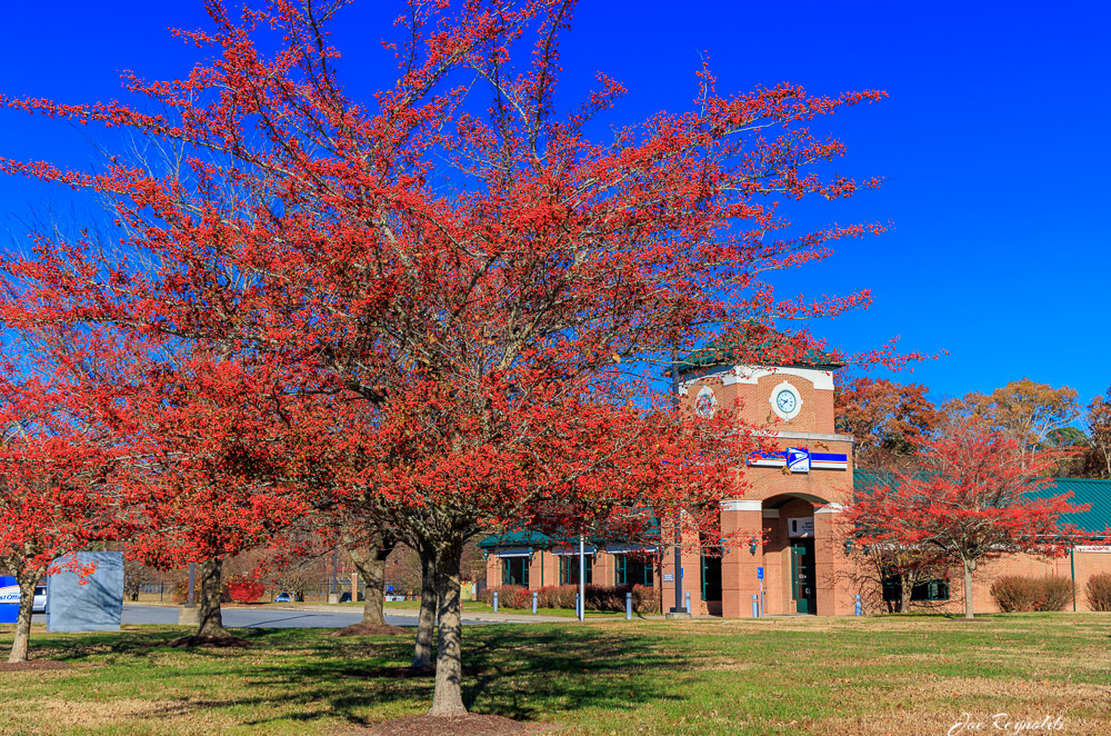
[{"label": "green roof capping the clock tower, partly behind red branches", "polygon": [[742,365],[832,370],[843,364],[813,348],[800,351],[789,336],[765,325],[750,322],[739,334],[721,335],[683,358],[679,362],[679,372]]}]

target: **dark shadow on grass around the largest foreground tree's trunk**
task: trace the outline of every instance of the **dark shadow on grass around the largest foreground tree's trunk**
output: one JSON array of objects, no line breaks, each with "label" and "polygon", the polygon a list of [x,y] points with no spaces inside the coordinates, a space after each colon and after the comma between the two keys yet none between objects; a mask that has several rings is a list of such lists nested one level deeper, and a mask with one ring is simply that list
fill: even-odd
[{"label": "dark shadow on grass around the largest foreground tree's trunk", "polygon": [[[477,713],[518,720],[551,719],[583,708],[622,709],[680,697],[659,677],[674,666],[652,639],[600,628],[489,626],[468,630],[463,646],[463,702]],[[370,650],[333,652],[282,667],[263,667],[258,682],[289,690],[309,706],[300,718],[340,715],[366,724],[361,712],[423,709],[431,703],[432,678],[397,677],[398,660],[411,657],[411,643],[367,641]],[[362,654],[362,656],[360,656]],[[391,657],[392,667],[379,664]],[[359,680],[353,683],[352,680]],[[328,707],[320,708],[323,702]],[[241,702],[240,702],[241,704]],[[251,725],[261,725],[264,720]]]}]

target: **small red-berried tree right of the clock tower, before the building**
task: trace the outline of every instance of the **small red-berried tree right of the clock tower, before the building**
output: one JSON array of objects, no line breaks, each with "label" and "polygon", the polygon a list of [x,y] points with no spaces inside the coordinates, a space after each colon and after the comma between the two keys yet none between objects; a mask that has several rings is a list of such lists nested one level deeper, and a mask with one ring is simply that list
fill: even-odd
[{"label": "small red-berried tree right of the clock tower, before the building", "polygon": [[1029,452],[1013,437],[964,421],[922,440],[928,470],[892,474],[889,484],[860,495],[843,521],[855,545],[921,550],[964,574],[964,617],[973,617],[973,574],[987,560],[1029,553],[1059,556],[1083,536],[1064,524],[1070,494],[1045,496],[1042,477],[1061,452]]}]

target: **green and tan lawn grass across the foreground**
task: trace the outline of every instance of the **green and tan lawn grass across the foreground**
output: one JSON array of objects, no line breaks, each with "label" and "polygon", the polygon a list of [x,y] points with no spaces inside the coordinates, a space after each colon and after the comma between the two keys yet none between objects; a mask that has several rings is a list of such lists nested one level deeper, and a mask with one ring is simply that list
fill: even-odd
[{"label": "green and tan lawn grass across the foreground", "polygon": [[[342,734],[428,707],[429,678],[389,669],[408,637],[239,629],[252,649],[167,648],[182,630],[37,627],[32,656],[78,668],[0,673],[0,733]],[[1109,734],[1109,635],[1101,614],[477,626],[464,699],[567,734],[947,734],[1001,712]]]}]

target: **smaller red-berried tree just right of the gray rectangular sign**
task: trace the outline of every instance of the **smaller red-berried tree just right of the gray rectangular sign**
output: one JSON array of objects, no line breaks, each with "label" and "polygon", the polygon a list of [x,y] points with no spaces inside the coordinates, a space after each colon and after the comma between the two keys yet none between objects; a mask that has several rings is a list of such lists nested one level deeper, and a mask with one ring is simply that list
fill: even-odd
[{"label": "smaller red-berried tree just right of the gray rectangular sign", "polygon": [[130,392],[127,553],[162,569],[200,564],[197,637],[230,637],[224,558],[269,545],[310,509],[306,484],[287,477],[297,448],[274,390],[266,370],[197,351],[150,365]]}]

